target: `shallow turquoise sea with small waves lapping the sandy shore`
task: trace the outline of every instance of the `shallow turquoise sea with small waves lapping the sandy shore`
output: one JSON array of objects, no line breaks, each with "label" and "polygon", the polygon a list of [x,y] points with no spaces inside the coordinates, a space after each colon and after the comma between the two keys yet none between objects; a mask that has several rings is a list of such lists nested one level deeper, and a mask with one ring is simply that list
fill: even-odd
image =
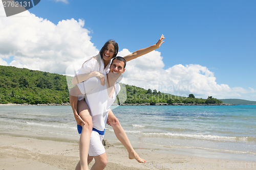
[{"label": "shallow turquoise sea with small waves lapping the sandy shore", "polygon": [[[112,111],[135,149],[256,160],[256,105],[112,106]],[[70,106],[0,105],[1,134],[79,141]],[[104,138],[123,147],[109,125]]]}]

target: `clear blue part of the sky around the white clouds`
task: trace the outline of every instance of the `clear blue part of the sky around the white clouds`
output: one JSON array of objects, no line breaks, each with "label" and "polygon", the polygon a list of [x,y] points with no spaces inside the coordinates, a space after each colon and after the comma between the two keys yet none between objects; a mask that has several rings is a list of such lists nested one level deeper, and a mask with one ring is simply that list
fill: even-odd
[{"label": "clear blue part of the sky around the white clouds", "polygon": [[[54,25],[58,25],[62,20],[74,18],[79,21],[81,19],[84,22],[82,28],[87,30],[90,42],[93,43],[96,51],[100,50],[108,39],[115,39],[119,44],[119,51],[126,48],[129,52],[133,52],[153,45],[161,34],[164,34],[165,42],[156,50],[161,53],[158,63],[164,64],[160,66],[161,70],[172,69],[171,72],[173,72],[174,66],[179,64],[184,66],[184,69],[188,69],[189,65],[202,66],[210,71],[217,85],[223,84],[229,87],[226,91],[230,95],[228,93],[221,95],[222,90],[226,88],[224,86],[222,90],[212,92],[213,94],[203,95],[197,90],[180,91],[179,94],[194,92],[196,97],[202,98],[213,95],[219,99],[238,98],[256,101],[255,8],[256,1],[233,0],[42,0],[29,12],[36,17],[47,19]],[[8,18],[0,19],[5,21]],[[13,58],[15,59],[13,57],[15,54],[9,54],[9,58],[3,57],[3,61],[10,64]],[[150,61],[154,64],[154,60]],[[158,68],[155,69],[157,70]],[[130,77],[127,76],[127,78]],[[142,86],[136,81],[132,84]],[[159,84],[154,88],[165,91],[164,88],[159,87]],[[220,87],[212,87],[214,88]],[[177,94],[177,91],[166,92]],[[231,93],[237,93],[237,95]]]}]

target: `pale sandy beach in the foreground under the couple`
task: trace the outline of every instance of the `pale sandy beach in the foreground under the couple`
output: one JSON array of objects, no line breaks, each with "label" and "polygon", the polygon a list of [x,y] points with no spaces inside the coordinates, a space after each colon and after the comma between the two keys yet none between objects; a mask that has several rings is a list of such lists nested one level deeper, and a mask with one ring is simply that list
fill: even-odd
[{"label": "pale sandy beach in the foreground under the couple", "polygon": [[[255,169],[256,162],[220,160],[158,151],[136,152],[145,164],[130,160],[122,148],[106,148],[105,169]],[[74,169],[79,161],[78,143],[40,140],[28,137],[0,136],[0,169]],[[90,167],[92,163],[90,164]]]}]

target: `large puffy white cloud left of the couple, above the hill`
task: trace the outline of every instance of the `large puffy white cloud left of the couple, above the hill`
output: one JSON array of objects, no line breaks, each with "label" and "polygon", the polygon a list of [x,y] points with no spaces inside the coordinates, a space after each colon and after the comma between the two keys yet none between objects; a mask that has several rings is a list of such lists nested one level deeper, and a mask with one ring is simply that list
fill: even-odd
[{"label": "large puffy white cloud left of the couple, above the hill", "polygon": [[[0,15],[5,15],[0,6]],[[65,74],[68,65],[96,55],[84,20],[67,19],[57,25],[28,11],[0,20],[0,57],[11,56],[9,65]],[[79,63],[79,66],[81,63]]]}]

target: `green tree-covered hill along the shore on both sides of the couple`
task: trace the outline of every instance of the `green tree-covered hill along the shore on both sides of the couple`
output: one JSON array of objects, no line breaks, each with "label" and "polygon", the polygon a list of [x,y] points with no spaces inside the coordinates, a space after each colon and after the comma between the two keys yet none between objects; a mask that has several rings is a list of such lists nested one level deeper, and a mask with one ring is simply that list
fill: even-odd
[{"label": "green tree-covered hill along the shore on both sides of the couple", "polygon": [[[68,80],[68,85],[67,85]],[[49,72],[0,66],[0,103],[15,104],[63,104],[69,103],[69,89],[72,77]],[[222,101],[209,96],[197,99],[162,93],[157,90],[143,89],[120,83],[119,104],[221,104]],[[121,95],[120,95],[121,94]],[[122,102],[120,102],[122,101]]]}]

